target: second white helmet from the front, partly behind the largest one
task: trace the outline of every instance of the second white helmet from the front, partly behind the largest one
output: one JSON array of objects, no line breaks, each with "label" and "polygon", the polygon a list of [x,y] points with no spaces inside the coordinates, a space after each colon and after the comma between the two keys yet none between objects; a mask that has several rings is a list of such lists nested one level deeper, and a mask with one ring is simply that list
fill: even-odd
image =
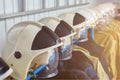
[{"label": "second white helmet from the front, partly behind the largest one", "polygon": [[72,57],[72,39],[75,35],[72,27],[63,20],[55,17],[46,17],[39,20],[39,22],[48,26],[53,32],[55,32],[64,43],[59,47],[60,59],[68,60]]}]

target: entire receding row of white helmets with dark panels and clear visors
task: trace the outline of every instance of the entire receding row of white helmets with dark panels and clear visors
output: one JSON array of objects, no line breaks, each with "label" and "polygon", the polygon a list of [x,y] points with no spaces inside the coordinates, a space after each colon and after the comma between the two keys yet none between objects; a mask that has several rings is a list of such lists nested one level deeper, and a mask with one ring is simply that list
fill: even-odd
[{"label": "entire receding row of white helmets with dark panels and clear visors", "polygon": [[[109,9],[105,14],[114,14],[113,6],[105,9]],[[100,10],[79,9],[60,14],[59,18],[46,17],[38,22],[15,24],[7,33],[2,54],[2,59],[13,69],[11,76],[18,80],[30,80],[32,77],[57,75],[59,60],[71,59],[72,45],[77,41],[86,41],[87,29],[103,18]],[[5,77],[0,76],[0,79]]]}]

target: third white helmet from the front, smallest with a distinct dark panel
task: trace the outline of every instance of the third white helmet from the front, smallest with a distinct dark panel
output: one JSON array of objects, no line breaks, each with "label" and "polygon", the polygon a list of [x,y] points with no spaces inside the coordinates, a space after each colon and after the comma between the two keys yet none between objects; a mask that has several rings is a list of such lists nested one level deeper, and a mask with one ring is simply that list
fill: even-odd
[{"label": "third white helmet from the front, smallest with a distinct dark panel", "polygon": [[74,40],[79,41],[86,41],[87,38],[87,30],[86,30],[86,19],[79,13],[63,13],[58,16],[59,18],[63,19],[65,22],[67,22],[69,25],[72,26],[74,31],[76,32],[76,35],[74,36]]}]

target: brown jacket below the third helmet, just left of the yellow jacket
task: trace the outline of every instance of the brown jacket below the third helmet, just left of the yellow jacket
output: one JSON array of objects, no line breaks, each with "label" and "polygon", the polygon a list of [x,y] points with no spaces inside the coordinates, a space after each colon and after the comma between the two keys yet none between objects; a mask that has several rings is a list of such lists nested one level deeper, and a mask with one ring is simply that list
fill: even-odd
[{"label": "brown jacket below the third helmet, just left of the yellow jacket", "polygon": [[109,79],[111,80],[111,74],[108,70],[108,63],[105,57],[104,53],[104,48],[99,46],[98,44],[95,43],[95,41],[92,39],[91,31],[90,29],[88,30],[88,41],[85,42],[78,42],[76,45],[81,46],[85,49],[87,49],[92,56],[95,56],[99,58],[105,72],[108,74]]}]

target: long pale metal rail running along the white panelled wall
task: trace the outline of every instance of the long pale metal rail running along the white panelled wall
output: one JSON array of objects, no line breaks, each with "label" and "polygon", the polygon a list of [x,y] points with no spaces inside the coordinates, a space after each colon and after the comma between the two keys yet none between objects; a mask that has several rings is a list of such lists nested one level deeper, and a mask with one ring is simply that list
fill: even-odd
[{"label": "long pale metal rail running along the white panelled wall", "polygon": [[[44,3],[44,0],[43,0],[43,3]],[[72,8],[72,7],[77,7],[77,6],[83,6],[83,5],[87,5],[87,4],[89,4],[89,3],[76,4],[76,5],[67,5],[67,6],[63,6],[63,7],[56,6],[54,8],[44,8],[44,6],[43,6],[42,9],[31,10],[31,11],[24,11],[23,8],[22,8],[21,10],[24,11],[24,12],[18,12],[18,13],[13,13],[13,14],[2,15],[2,16],[0,16],[0,20],[19,17],[19,16],[24,16],[24,15],[36,14],[36,13],[43,13],[43,12],[48,12],[48,11]]]}]

